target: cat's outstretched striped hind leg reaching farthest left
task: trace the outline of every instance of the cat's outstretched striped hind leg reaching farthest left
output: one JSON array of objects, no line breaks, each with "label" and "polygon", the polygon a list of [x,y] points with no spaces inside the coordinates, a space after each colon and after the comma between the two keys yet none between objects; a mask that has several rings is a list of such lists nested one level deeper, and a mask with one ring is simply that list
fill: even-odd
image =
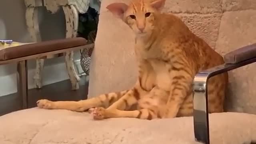
[{"label": "cat's outstretched striped hind leg reaching farthest left", "polygon": [[83,112],[89,108],[104,107],[107,108],[122,96],[124,96],[129,90],[122,92],[113,92],[109,94],[101,94],[100,96],[93,97],[87,100],[80,101],[50,101],[50,100],[38,100],[37,106],[45,109],[64,109],[77,112]]}]

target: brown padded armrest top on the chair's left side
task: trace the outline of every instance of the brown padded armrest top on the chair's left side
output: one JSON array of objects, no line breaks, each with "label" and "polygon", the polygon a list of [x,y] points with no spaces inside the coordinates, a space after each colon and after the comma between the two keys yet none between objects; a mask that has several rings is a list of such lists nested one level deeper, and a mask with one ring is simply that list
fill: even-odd
[{"label": "brown padded armrest top on the chair's left side", "polygon": [[66,38],[4,48],[0,50],[0,60],[10,60],[44,52],[83,46],[86,42],[87,40],[84,38]]}]

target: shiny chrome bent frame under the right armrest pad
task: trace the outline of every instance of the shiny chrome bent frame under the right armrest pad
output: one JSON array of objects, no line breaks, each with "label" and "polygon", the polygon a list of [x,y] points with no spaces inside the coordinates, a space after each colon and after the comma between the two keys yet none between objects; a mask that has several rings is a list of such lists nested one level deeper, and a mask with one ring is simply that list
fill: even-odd
[{"label": "shiny chrome bent frame under the right armrest pad", "polygon": [[207,96],[208,79],[254,62],[256,62],[256,58],[244,60],[237,64],[222,64],[196,74],[193,83],[194,135],[196,141],[210,144]]}]

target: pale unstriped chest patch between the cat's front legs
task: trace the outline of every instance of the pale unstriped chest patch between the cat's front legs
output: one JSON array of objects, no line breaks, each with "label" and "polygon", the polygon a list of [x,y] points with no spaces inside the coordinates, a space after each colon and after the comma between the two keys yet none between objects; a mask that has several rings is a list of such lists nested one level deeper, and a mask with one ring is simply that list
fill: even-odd
[{"label": "pale unstriped chest patch between the cat's front legs", "polygon": [[152,66],[154,73],[156,74],[155,84],[162,90],[169,91],[171,85],[170,79],[170,64],[162,61],[151,59],[149,60],[150,65]]}]

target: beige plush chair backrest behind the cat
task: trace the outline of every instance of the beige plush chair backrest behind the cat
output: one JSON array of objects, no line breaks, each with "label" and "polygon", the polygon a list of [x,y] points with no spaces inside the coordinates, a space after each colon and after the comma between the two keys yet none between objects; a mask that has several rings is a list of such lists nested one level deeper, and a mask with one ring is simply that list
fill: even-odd
[{"label": "beige plush chair backrest behind the cat", "polygon": [[[134,35],[102,0],[92,56],[89,97],[130,88],[136,81]],[[179,16],[196,35],[224,54],[256,43],[256,0],[166,0],[164,12]],[[256,64],[229,72],[227,110],[256,114]]]}]

